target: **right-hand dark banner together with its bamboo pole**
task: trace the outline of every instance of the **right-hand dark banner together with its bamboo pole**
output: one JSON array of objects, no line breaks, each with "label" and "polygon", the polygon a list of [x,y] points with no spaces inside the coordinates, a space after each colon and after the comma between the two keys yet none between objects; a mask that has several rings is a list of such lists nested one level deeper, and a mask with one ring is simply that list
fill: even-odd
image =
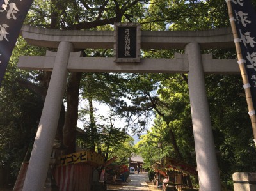
[{"label": "right-hand dark banner together with its bamboo pole", "polygon": [[226,0],[256,146],[256,15],[250,0]]}]

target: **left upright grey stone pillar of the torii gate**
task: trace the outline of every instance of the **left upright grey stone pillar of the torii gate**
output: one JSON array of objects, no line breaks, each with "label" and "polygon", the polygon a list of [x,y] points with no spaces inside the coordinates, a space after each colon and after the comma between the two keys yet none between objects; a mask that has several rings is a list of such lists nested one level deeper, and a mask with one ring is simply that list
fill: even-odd
[{"label": "left upright grey stone pillar of the torii gate", "polygon": [[44,190],[52,145],[60,116],[61,103],[67,84],[68,59],[72,49],[73,45],[70,42],[60,42],[59,44],[24,181],[24,191]]}]

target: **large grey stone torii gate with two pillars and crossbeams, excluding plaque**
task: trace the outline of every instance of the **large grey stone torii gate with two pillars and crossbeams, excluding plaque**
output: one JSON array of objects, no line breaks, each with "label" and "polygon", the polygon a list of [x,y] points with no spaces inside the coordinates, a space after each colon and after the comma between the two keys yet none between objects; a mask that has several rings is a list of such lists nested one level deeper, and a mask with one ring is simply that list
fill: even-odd
[{"label": "large grey stone torii gate with two pillars and crossbeams, excluding plaque", "polygon": [[115,58],[80,57],[73,49],[113,49],[114,31],[59,31],[23,26],[21,35],[31,45],[58,48],[46,56],[20,56],[24,70],[51,70],[52,77],[35,137],[23,190],[43,190],[49,156],[60,114],[68,72],[188,73],[189,98],[200,190],[221,190],[204,74],[239,74],[235,59],[212,59],[204,49],[234,47],[230,28],[208,31],[141,31],[141,49],[185,49],[174,59],[141,59],[116,63]]}]

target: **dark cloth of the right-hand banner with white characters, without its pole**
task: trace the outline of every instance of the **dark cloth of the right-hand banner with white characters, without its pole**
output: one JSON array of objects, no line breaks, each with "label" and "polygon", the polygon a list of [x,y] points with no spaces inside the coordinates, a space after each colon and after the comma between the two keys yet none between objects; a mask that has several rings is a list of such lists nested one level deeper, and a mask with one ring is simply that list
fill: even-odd
[{"label": "dark cloth of the right-hand banner with white characters, without its pole", "polygon": [[256,109],[256,14],[250,0],[231,0],[252,101]]}]

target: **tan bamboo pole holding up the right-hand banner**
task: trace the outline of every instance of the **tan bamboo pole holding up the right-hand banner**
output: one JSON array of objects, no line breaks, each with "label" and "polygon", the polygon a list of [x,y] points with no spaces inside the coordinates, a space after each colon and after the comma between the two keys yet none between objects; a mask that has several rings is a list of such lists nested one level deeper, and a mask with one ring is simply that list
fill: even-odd
[{"label": "tan bamboo pole holding up the right-hand banner", "polygon": [[239,62],[239,69],[240,69],[241,76],[243,79],[243,84],[244,84],[246,102],[247,102],[248,110],[249,110],[248,113],[250,115],[250,119],[251,119],[251,123],[252,123],[253,139],[256,144],[256,116],[255,116],[255,110],[253,107],[250,86],[248,86],[248,84],[249,84],[248,75],[247,75],[246,68],[244,65],[245,61],[242,56],[240,43],[239,43],[239,41],[237,41],[237,39],[239,39],[239,36],[237,34],[236,24],[235,24],[235,20],[234,20],[233,11],[232,11],[231,0],[226,0],[226,2],[227,2],[227,6],[228,6],[228,15],[229,15],[229,19],[230,19],[232,33],[233,33],[233,37],[234,37],[234,41],[235,41],[235,45],[236,45],[236,54],[237,54],[237,59]]}]

